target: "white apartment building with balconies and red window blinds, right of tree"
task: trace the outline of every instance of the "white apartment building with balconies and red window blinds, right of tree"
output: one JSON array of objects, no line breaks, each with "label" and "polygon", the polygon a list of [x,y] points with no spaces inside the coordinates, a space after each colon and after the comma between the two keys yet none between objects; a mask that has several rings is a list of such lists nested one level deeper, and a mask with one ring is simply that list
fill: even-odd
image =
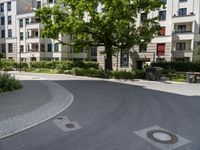
[{"label": "white apartment building with balconies and red window blinds, right of tree", "polygon": [[[138,14],[137,25],[146,17],[159,17],[162,27],[160,34],[147,46],[135,46],[130,51],[113,57],[113,69],[141,69],[146,62],[192,61],[193,50],[200,45],[200,0],[162,0],[165,9],[149,14]],[[97,60],[104,68],[101,55],[103,47],[98,48]]]}]

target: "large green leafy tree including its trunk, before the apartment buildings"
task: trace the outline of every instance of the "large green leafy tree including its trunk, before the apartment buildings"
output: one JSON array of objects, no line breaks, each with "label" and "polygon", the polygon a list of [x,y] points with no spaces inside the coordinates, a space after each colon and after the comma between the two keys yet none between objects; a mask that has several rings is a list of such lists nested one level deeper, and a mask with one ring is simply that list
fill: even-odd
[{"label": "large green leafy tree including its trunk, before the apartment buildings", "polygon": [[[77,50],[105,47],[105,69],[112,70],[115,49],[128,50],[147,44],[158,31],[156,18],[146,18],[140,26],[136,18],[163,6],[161,0],[59,0],[53,7],[36,10],[44,25],[42,37],[58,40]],[[70,42],[60,35],[72,35]]]}]

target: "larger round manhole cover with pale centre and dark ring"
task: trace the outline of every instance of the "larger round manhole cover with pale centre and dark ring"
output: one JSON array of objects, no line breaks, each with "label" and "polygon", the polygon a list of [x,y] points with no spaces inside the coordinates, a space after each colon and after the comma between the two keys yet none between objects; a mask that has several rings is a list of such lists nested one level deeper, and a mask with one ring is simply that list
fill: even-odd
[{"label": "larger round manhole cover with pale centre and dark ring", "polygon": [[162,144],[175,144],[178,142],[178,138],[175,134],[164,130],[151,130],[147,132],[147,137],[154,142]]}]

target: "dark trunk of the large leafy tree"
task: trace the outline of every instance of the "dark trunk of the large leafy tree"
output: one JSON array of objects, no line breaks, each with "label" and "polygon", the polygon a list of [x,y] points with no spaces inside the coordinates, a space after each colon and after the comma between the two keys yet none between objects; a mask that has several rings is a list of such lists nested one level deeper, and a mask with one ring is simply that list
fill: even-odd
[{"label": "dark trunk of the large leafy tree", "polygon": [[106,52],[105,71],[113,70],[113,66],[112,66],[112,46],[105,45],[105,52]]}]

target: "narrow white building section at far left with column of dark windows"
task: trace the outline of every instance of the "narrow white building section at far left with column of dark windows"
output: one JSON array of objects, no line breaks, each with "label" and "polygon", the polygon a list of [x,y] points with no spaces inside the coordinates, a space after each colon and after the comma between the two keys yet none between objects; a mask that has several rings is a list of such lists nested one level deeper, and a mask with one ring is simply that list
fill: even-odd
[{"label": "narrow white building section at far left with column of dark windows", "polygon": [[17,59],[16,1],[0,1],[0,53],[8,59]]}]

